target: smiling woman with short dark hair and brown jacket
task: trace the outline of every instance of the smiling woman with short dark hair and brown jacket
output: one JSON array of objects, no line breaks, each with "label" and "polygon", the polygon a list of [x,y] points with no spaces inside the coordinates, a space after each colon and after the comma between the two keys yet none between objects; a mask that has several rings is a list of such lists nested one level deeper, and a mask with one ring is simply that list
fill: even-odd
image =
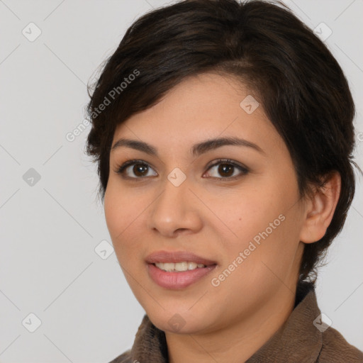
[{"label": "smiling woman with short dark hair and brown jacket", "polygon": [[235,0],[147,13],[88,113],[108,230],[146,311],[113,363],[363,362],[314,290],[354,196],[354,103],[296,16]]}]

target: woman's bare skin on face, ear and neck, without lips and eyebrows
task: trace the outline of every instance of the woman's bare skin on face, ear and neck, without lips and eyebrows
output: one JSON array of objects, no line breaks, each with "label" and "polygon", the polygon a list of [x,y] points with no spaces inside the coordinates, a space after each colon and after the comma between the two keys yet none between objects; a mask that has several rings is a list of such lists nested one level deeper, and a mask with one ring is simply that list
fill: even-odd
[{"label": "woman's bare skin on face, ear and neck, without lips and eyebrows", "polygon": [[[157,157],[130,147],[111,151],[104,208],[118,262],[152,323],[164,330],[171,363],[237,363],[251,357],[289,317],[304,243],[323,237],[333,218],[339,174],[313,198],[299,198],[289,151],[262,105],[251,114],[240,107],[249,94],[226,75],[189,77],[114,134],[113,145],[130,138],[158,152]],[[228,136],[245,138],[263,152],[225,145],[198,157],[191,153],[196,143]],[[249,172],[232,167],[223,174],[218,170],[223,162],[208,170],[220,158]],[[129,179],[117,173],[133,159],[149,165],[146,177],[133,166],[125,172]],[[167,179],[175,167],[186,176],[180,186]],[[211,279],[281,214],[284,221],[213,286]],[[184,289],[165,289],[149,277],[145,263],[159,250],[194,252],[217,267]],[[178,331],[168,323],[176,313],[185,322]]]}]

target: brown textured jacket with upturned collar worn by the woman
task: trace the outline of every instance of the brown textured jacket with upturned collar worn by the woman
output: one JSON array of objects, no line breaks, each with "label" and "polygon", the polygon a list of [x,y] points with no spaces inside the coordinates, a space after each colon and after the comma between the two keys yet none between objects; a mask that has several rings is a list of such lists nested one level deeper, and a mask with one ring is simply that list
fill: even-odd
[{"label": "brown textured jacket with upturned collar worn by the woman", "polygon": [[[245,363],[362,363],[363,352],[319,315],[313,285],[299,284],[289,319]],[[168,363],[164,332],[144,315],[132,349],[110,363]]]}]

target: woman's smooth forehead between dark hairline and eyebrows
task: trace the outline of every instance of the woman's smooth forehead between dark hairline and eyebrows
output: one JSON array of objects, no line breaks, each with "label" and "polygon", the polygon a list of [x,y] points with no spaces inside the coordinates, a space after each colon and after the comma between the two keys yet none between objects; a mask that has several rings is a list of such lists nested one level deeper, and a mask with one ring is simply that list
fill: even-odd
[{"label": "woman's smooth forehead between dark hairline and eyebrows", "polygon": [[252,105],[256,107],[252,113],[243,108],[242,101],[253,100],[252,94],[233,77],[213,73],[188,77],[158,104],[118,125],[113,145],[119,138],[133,138],[167,152],[169,147],[181,150],[217,137],[245,138],[257,145],[281,143],[262,105]]}]

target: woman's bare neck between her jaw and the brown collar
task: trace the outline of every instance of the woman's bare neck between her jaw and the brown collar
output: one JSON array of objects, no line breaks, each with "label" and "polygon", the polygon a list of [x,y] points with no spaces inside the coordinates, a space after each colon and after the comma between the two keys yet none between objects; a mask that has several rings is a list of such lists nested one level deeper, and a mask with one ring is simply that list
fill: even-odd
[{"label": "woman's bare neck between her jaw and the brown collar", "polygon": [[206,334],[165,332],[169,363],[230,362],[249,359],[286,322],[294,309],[295,289],[281,285],[273,298],[253,314],[235,319],[219,330]]}]

